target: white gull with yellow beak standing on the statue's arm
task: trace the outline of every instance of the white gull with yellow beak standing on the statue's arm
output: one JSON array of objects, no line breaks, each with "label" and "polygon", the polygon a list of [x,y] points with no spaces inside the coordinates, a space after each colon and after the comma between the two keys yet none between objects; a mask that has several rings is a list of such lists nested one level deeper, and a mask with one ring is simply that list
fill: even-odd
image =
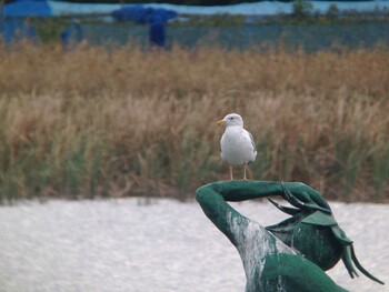
[{"label": "white gull with yellow beak standing on the statue's arm", "polygon": [[220,140],[220,157],[228,163],[230,179],[233,180],[233,165],[245,165],[243,179],[247,180],[247,164],[256,160],[257,150],[252,135],[243,129],[242,117],[238,113],[229,113],[217,124],[226,125],[226,131]]}]

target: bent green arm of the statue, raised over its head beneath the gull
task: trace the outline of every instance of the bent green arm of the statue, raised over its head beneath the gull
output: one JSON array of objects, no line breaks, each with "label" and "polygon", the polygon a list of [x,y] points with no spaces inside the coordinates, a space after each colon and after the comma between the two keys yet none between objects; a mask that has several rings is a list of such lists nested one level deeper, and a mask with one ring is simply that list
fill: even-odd
[{"label": "bent green arm of the statue, raised over its head beneath the gull", "polygon": [[327,202],[317,191],[299,182],[221,181],[203,185],[196,193],[197,201],[206,215],[236,246],[238,245],[237,236],[239,235],[237,235],[237,230],[233,226],[239,225],[240,230],[243,230],[250,220],[231,208],[227,203],[228,201],[239,202],[280,195],[299,208],[292,210],[292,212],[300,212],[303,209],[308,212],[315,212],[316,210],[331,212]]}]

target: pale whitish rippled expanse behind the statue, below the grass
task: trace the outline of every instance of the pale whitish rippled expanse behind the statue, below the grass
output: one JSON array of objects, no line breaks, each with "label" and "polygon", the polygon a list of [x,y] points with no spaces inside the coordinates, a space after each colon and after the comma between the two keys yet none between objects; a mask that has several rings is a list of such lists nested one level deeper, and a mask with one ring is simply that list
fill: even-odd
[{"label": "pale whitish rippled expanse behind the statue, below the grass", "polygon": [[[238,252],[196,202],[141,199],[21,202],[0,208],[0,291],[233,292],[245,290]],[[263,224],[285,215],[268,202],[233,204]],[[389,291],[389,205],[331,203],[365,268],[350,291]]]}]

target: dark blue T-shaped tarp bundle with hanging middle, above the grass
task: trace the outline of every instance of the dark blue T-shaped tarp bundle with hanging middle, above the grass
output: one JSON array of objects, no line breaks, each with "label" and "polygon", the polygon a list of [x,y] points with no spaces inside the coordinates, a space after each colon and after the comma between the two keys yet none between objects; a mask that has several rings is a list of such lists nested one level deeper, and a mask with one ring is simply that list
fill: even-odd
[{"label": "dark blue T-shaped tarp bundle with hanging middle, above the grass", "polygon": [[126,6],[112,12],[112,18],[117,21],[149,24],[150,46],[160,48],[163,48],[166,43],[164,23],[177,16],[178,13],[172,10],[143,8],[142,6]]}]

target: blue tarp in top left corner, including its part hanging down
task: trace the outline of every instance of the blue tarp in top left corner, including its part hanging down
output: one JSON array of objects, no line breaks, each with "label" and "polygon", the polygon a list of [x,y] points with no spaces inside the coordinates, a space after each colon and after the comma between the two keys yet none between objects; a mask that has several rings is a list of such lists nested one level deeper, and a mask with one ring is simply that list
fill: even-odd
[{"label": "blue tarp in top left corner, including its part hanging down", "polygon": [[19,0],[2,7],[0,30],[9,44],[22,39],[38,41],[36,29],[26,20],[30,17],[50,17],[52,11],[46,0]]}]

